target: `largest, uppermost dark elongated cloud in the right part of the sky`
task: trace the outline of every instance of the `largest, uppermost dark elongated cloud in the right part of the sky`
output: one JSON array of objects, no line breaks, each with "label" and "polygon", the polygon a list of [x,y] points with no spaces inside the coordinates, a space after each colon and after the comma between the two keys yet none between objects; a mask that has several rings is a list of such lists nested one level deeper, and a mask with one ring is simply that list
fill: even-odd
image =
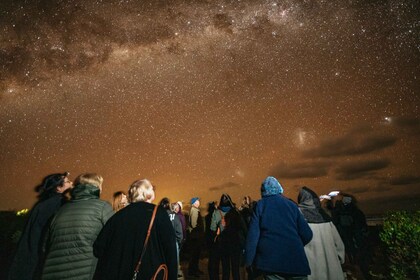
[{"label": "largest, uppermost dark elongated cloud in the right part of the sky", "polygon": [[354,156],[382,150],[395,144],[397,138],[390,135],[369,135],[362,131],[353,131],[347,135],[328,139],[317,147],[303,152],[306,158],[328,158]]}]

